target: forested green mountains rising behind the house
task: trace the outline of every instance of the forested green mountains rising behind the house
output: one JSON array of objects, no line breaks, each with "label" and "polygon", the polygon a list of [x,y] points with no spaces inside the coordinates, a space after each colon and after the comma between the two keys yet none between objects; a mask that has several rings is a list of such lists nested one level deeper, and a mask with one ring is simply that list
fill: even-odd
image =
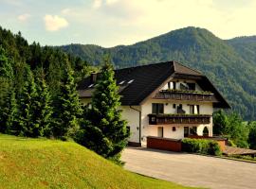
[{"label": "forested green mountains rising behind the house", "polygon": [[60,46],[93,65],[109,54],[117,68],[177,60],[210,77],[235,112],[256,119],[256,37],[221,40],[209,30],[185,27],[133,45]]}]

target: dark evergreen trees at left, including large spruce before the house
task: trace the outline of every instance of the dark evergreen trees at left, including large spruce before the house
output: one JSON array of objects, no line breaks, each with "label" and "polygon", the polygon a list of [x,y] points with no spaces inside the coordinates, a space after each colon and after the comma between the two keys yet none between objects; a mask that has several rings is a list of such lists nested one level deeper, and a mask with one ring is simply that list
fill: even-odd
[{"label": "dark evergreen trees at left, including large spruce before the house", "polygon": [[[129,133],[118,111],[112,64],[104,61],[92,105],[83,106],[76,84],[99,68],[52,47],[28,45],[20,33],[1,29],[0,132],[73,139],[119,163]],[[101,104],[97,101],[102,93]]]}]

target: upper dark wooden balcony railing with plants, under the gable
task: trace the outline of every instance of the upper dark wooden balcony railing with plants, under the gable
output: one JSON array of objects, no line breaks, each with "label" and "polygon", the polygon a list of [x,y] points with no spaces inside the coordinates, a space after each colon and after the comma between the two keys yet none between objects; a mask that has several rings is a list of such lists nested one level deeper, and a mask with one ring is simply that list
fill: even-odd
[{"label": "upper dark wooden balcony railing with plants, under the gable", "polygon": [[154,98],[217,102],[215,95],[210,92],[189,90],[162,90],[155,94]]}]

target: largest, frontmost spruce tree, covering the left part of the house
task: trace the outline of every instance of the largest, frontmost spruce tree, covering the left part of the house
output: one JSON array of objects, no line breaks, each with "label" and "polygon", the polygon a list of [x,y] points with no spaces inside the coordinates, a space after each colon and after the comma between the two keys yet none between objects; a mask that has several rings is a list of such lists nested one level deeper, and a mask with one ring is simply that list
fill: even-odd
[{"label": "largest, frontmost spruce tree, covering the left part of the house", "polygon": [[119,99],[113,66],[105,60],[92,97],[91,109],[85,111],[78,142],[118,163],[129,136],[126,121],[121,120]]}]

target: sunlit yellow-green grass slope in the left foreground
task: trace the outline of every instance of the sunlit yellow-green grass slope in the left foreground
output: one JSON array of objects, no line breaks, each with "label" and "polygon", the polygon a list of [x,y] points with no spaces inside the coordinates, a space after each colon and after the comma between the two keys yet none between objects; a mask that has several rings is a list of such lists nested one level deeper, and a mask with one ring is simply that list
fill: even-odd
[{"label": "sunlit yellow-green grass slope in the left foreground", "polygon": [[0,134],[2,188],[191,188],[124,170],[73,142]]}]

